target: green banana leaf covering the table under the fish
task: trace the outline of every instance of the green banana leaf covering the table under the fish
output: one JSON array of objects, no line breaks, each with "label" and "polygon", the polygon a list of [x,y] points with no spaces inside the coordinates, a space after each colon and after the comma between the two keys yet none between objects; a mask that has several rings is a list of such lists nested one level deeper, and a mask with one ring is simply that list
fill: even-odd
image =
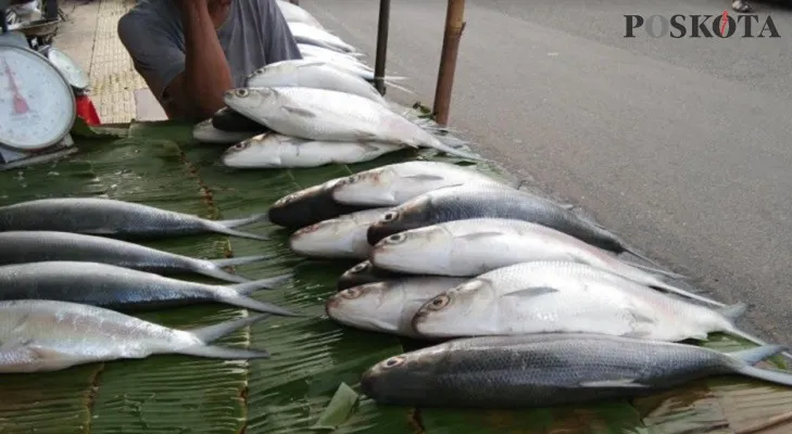
[{"label": "green banana leaf covering the table under the fish", "polygon": [[[68,159],[0,173],[0,205],[48,196],[106,195],[213,219],[261,213],[277,199],[328,179],[408,158],[300,170],[234,170],[221,166],[226,146],[193,143],[191,125],[80,125],[80,152]],[[454,158],[444,158],[457,162]],[[477,168],[513,181],[496,167]],[[56,218],[56,216],[53,216]],[[322,316],[325,298],[350,261],[307,260],[291,254],[289,232],[266,222],[242,228],[269,241],[221,235],[147,243],[184,255],[218,258],[267,254],[237,272],[292,282],[254,298]],[[0,246],[1,248],[1,246]],[[185,279],[198,279],[186,277]],[[138,314],[189,329],[244,315],[224,305]],[[739,378],[707,379],[634,401],[525,411],[454,411],[378,406],[360,392],[360,374],[413,342],[355,330],[325,318],[269,318],[219,344],[266,348],[272,357],[222,361],[154,356],[75,367],[60,372],[0,375],[2,433],[749,433],[789,432],[792,391]],[[750,344],[714,335],[721,350]],[[779,363],[778,360],[776,360]],[[784,423],[787,423],[784,425]]]}]

